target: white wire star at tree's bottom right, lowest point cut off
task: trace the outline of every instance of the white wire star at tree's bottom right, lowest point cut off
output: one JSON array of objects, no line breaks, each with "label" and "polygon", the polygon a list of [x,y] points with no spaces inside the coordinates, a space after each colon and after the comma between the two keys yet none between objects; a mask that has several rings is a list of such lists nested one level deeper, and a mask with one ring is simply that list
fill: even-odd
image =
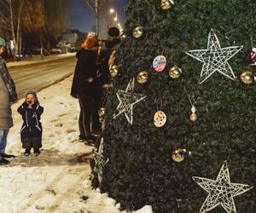
[{"label": "white wire star at tree's bottom right, lowest point cut off", "polygon": [[216,181],[197,176],[193,176],[192,178],[208,193],[207,199],[201,206],[201,213],[212,210],[219,204],[228,213],[236,212],[236,205],[233,198],[253,188],[246,184],[231,183],[230,171],[226,161],[224,161]]}]

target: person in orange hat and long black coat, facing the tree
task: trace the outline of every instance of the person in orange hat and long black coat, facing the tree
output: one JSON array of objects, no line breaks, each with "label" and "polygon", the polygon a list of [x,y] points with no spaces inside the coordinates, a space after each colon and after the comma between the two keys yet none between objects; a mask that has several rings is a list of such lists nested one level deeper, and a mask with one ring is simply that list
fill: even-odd
[{"label": "person in orange hat and long black coat, facing the tree", "polygon": [[[76,57],[78,59],[73,76],[71,95],[79,99],[79,139],[93,142],[92,131],[98,131],[100,124],[95,116],[98,109],[100,91],[97,89],[96,57],[99,43],[90,37],[83,43]],[[90,129],[91,124],[91,129]]]}]

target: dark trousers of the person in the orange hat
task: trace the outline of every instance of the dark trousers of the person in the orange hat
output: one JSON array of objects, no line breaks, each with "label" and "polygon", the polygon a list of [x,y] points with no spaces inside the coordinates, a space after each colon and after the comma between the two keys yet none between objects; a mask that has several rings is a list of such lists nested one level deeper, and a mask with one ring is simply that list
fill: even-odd
[{"label": "dark trousers of the person in the orange hat", "polygon": [[79,95],[79,138],[91,136],[91,131],[100,130],[98,115],[99,100],[87,95]]}]

